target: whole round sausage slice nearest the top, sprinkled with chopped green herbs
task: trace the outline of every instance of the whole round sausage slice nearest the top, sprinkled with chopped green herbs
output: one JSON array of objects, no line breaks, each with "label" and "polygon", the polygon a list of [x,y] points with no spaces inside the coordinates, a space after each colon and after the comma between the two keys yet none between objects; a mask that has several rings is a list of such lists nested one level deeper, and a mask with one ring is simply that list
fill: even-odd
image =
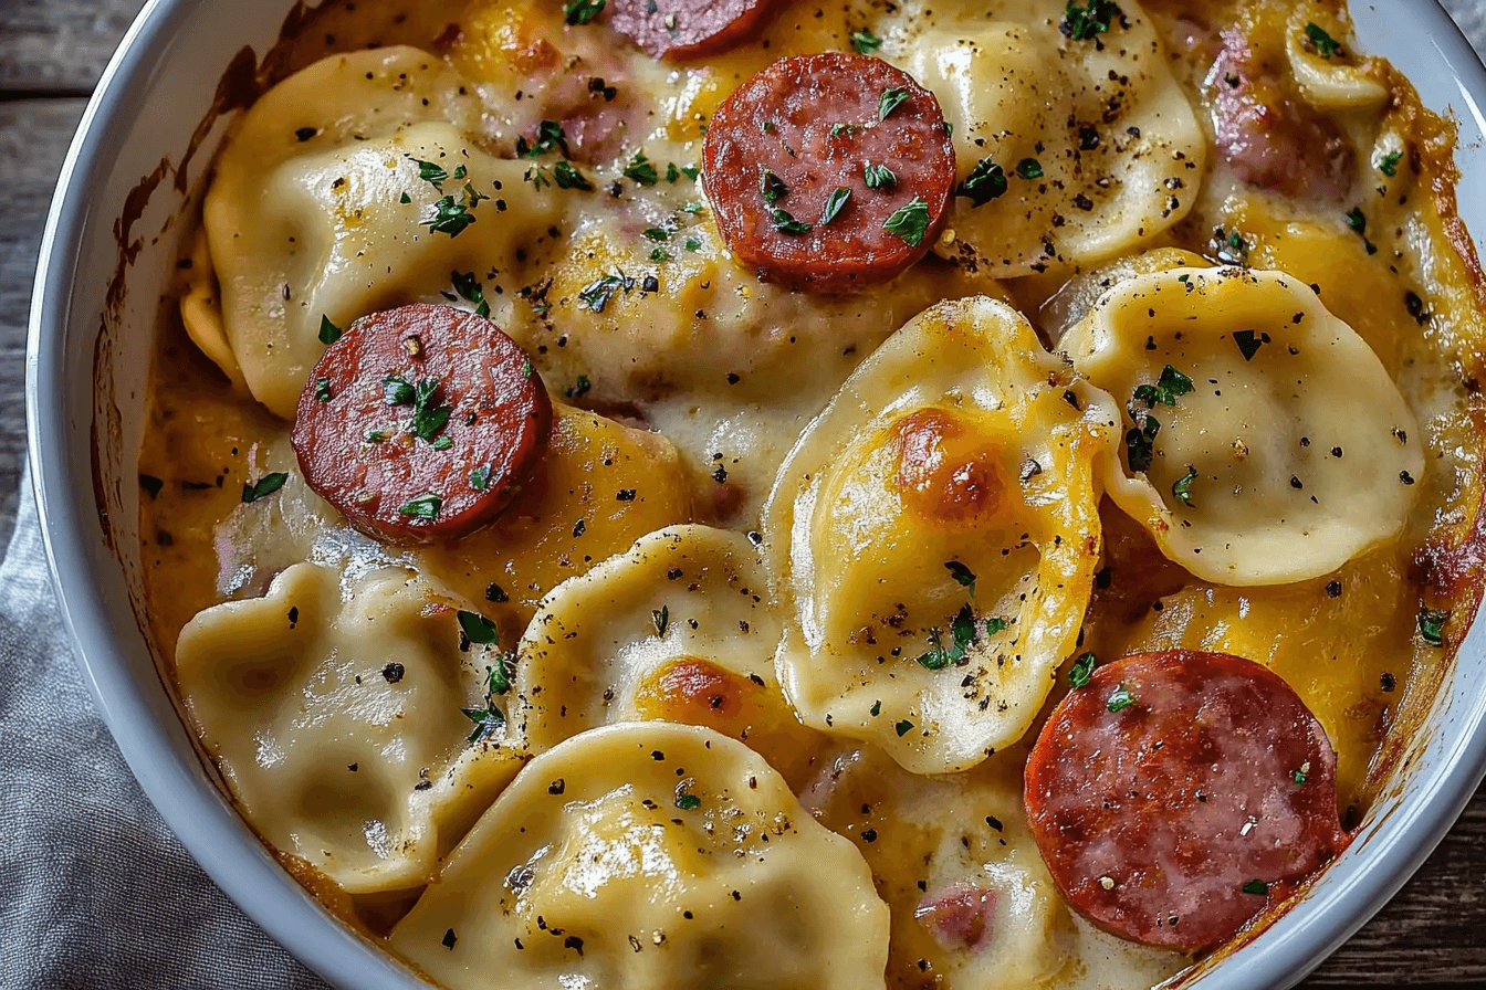
[{"label": "whole round sausage slice nearest the top, sprinkled with chopped green herbs", "polygon": [[703,183],[737,258],[820,292],[886,282],[921,258],[954,187],[935,95],[865,55],[783,58],[707,125]]}]

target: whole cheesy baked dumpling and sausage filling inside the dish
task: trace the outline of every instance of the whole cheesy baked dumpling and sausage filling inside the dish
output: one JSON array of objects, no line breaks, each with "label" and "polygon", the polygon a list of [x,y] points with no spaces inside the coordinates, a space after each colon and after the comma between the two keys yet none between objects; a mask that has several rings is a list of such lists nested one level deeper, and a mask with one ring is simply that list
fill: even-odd
[{"label": "whole cheesy baked dumpling and sausage filling inside the dish", "polygon": [[1453,126],[1333,0],[330,0],[140,460],[204,760],[446,987],[1152,987],[1480,601]]}]

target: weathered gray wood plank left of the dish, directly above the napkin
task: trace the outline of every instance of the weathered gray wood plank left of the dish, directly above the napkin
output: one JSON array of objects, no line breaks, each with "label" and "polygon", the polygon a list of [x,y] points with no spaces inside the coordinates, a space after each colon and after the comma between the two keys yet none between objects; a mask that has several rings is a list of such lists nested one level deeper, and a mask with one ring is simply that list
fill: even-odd
[{"label": "weathered gray wood plank left of the dish, directly above the napkin", "polygon": [[[25,460],[25,325],[46,209],[85,99],[0,102],[0,546]],[[30,497],[30,496],[28,496]]]}]

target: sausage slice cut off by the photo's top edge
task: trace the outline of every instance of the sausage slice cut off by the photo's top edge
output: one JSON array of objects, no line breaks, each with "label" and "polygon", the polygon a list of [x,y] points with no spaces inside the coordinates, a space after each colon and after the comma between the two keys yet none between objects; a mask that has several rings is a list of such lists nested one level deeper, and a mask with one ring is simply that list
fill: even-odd
[{"label": "sausage slice cut off by the photo's top edge", "polygon": [[773,0],[609,0],[609,27],[654,58],[716,55],[747,40]]}]

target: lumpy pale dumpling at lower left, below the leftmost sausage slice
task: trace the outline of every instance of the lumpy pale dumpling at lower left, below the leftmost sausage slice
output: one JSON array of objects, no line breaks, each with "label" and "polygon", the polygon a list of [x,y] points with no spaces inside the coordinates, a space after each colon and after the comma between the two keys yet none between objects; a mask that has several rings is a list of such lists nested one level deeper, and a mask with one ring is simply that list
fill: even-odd
[{"label": "lumpy pale dumpling at lower left, below the leftmost sausage slice", "polygon": [[525,758],[471,739],[461,709],[495,707],[504,655],[456,609],[403,568],[342,588],[296,564],[181,631],[181,696],[244,818],[348,894],[426,883]]}]

